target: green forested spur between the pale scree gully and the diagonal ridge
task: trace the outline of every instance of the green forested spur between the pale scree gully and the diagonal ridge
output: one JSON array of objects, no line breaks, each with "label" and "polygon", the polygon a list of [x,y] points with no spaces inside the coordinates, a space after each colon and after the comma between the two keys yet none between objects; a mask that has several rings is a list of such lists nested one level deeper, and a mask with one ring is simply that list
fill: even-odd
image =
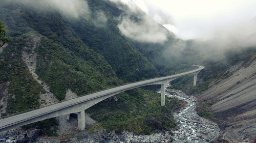
[{"label": "green forested spur between the pale scree gully and the diagonal ridge", "polygon": [[82,95],[118,84],[112,67],[83,44],[60,14],[41,11],[34,15],[35,12],[28,8],[23,17],[34,30],[46,36],[36,49],[36,73],[59,100],[65,98],[68,88]]}]

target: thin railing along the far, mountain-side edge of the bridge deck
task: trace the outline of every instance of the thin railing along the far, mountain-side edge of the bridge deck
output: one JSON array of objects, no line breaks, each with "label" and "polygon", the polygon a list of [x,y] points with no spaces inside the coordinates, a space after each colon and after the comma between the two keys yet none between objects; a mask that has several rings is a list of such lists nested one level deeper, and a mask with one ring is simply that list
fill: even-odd
[{"label": "thin railing along the far, mountain-side edge of the bridge deck", "polygon": [[[196,70],[196,69],[194,69],[194,70]],[[171,75],[167,75],[167,76],[160,76],[160,77],[168,77],[168,76],[171,76]],[[117,85],[117,86],[115,86],[115,87],[110,87],[110,88],[102,89],[102,90],[99,90],[99,91],[91,92],[91,93],[88,93],[88,94],[83,94],[83,95],[81,95],[81,96],[79,96],[79,97],[87,96],[87,95],[90,95],[90,94],[94,94],[94,93],[97,93],[97,92],[101,92],[101,91],[109,90],[109,89],[112,89],[112,88],[118,88],[118,87],[121,87],[121,86],[123,86],[123,85],[127,85],[127,84],[132,84],[132,83],[136,83],[136,82],[140,82],[140,81],[145,81],[145,80],[156,79],[156,78],[160,78],[160,77],[158,76],[158,77],[154,77],[154,78],[150,78],[150,79],[143,79],[143,80],[134,81],[134,82],[127,82],[127,83],[124,83],[124,84],[121,84],[121,85]],[[79,98],[79,97],[75,97],[75,98]],[[75,98],[71,98],[71,99],[75,99]],[[53,104],[50,104],[50,105],[54,105],[54,104],[57,104],[57,103],[65,102],[65,101],[68,101],[68,100],[71,100],[71,99],[61,100],[61,101],[58,101],[58,102],[53,103]],[[47,105],[47,106],[50,106],[50,105]],[[20,112],[12,113],[12,114],[10,114],[10,115],[0,117],[0,120],[1,120],[1,119],[5,119],[5,118],[8,118],[8,117],[16,116],[16,115],[19,115],[19,114],[22,114],[22,113],[25,113],[25,112],[29,112],[29,111],[32,111],[32,110],[36,110],[36,109],[40,109],[40,108],[44,108],[44,107],[47,107],[47,106],[40,106],[40,107],[31,108],[31,109],[24,110],[24,111],[20,111]]]}]

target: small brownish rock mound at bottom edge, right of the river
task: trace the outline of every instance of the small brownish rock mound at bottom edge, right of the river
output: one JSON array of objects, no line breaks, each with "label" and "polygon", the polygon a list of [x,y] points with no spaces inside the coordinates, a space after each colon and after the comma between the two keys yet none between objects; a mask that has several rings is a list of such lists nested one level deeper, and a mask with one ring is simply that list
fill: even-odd
[{"label": "small brownish rock mound at bottom edge, right of the river", "polygon": [[218,138],[211,141],[211,143],[238,143],[236,135],[230,131],[226,131],[221,134]]}]

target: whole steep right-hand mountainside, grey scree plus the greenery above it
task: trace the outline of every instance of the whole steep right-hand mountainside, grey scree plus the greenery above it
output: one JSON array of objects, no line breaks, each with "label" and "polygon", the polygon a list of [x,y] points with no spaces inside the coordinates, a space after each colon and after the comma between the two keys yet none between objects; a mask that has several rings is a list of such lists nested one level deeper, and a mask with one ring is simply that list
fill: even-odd
[{"label": "whole steep right-hand mountainside, grey scree plus the greenery above it", "polygon": [[242,51],[230,50],[227,54],[230,65],[226,63],[226,67],[217,65],[216,69],[212,69],[207,75],[208,81],[211,81],[208,89],[197,94],[199,115],[214,120],[223,130],[233,132],[240,140],[256,135],[255,50],[254,47]]}]

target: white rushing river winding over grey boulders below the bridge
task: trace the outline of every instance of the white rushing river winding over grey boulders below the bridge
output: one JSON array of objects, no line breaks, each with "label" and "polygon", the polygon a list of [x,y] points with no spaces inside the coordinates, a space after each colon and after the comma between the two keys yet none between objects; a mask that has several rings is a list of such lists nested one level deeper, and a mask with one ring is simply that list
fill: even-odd
[{"label": "white rushing river winding over grey boulders below the bridge", "polygon": [[217,124],[197,115],[195,97],[178,90],[167,90],[167,87],[169,84],[165,87],[167,97],[187,102],[182,110],[174,114],[179,130],[174,131],[173,142],[210,142],[220,135],[221,130]]}]

